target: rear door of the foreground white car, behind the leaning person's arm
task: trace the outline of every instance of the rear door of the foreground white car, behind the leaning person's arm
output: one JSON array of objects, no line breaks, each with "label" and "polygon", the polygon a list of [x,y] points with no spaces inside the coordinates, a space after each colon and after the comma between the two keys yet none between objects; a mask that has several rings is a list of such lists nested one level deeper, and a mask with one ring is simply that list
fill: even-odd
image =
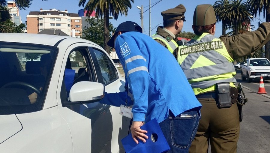
[{"label": "rear door of the foreground white car, behind the leaning person's arm", "polygon": [[[109,58],[108,54],[102,51],[100,48],[89,48],[91,56],[97,67],[97,76],[100,82],[103,82],[107,93],[115,93],[125,90],[125,82],[117,70],[113,60]],[[122,79],[122,80],[121,80]],[[117,89],[116,89],[117,88]],[[108,106],[105,106],[108,107]],[[120,107],[110,107],[110,111],[113,112],[113,132],[112,132],[112,152],[125,152],[121,143],[121,139],[127,136],[131,119],[119,114]],[[113,145],[113,143],[115,145]]]}]

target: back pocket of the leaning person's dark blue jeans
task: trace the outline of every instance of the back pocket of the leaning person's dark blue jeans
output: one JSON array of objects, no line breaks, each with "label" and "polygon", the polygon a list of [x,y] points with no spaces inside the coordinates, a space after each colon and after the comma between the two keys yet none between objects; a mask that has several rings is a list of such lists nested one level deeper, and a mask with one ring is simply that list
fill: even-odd
[{"label": "back pocket of the leaning person's dark blue jeans", "polygon": [[170,130],[173,146],[186,148],[193,134],[196,115],[191,117],[170,117]]}]

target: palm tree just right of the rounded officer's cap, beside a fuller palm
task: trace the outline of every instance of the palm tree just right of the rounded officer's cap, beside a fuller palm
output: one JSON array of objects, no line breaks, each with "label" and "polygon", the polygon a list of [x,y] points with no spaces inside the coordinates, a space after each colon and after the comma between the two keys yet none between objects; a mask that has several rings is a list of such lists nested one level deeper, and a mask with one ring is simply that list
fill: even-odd
[{"label": "palm tree just right of the rounded officer's cap, beside a fuller palm", "polygon": [[228,4],[229,4],[228,0],[221,0],[221,1],[216,1],[213,6],[216,13],[217,22],[219,21],[222,22],[222,35],[226,34],[226,23],[228,21],[226,20],[227,18],[222,18],[221,14],[223,13],[226,5]]}]

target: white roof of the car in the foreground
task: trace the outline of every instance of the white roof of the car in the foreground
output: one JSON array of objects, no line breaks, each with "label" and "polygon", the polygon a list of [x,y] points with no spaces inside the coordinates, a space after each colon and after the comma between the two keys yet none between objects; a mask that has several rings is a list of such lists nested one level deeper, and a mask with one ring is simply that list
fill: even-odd
[{"label": "white roof of the car in the foreground", "polygon": [[70,36],[27,34],[27,33],[0,33],[0,41],[2,42],[16,42],[16,43],[29,43],[29,44],[42,44],[55,46],[55,44],[58,44],[64,39],[70,39],[71,41],[74,41],[74,43],[81,42],[97,45],[91,41],[81,38],[74,38]]}]

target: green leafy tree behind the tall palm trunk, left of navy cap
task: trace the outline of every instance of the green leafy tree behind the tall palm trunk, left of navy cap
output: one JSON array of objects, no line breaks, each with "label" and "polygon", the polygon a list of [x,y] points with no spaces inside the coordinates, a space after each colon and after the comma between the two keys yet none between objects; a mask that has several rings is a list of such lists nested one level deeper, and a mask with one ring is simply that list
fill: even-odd
[{"label": "green leafy tree behind the tall palm trunk, left of navy cap", "polygon": [[[86,22],[88,22],[89,26],[83,27],[82,30],[82,36],[81,38],[92,41],[96,44],[98,44],[101,47],[104,47],[103,43],[103,36],[104,36],[104,20],[103,19],[94,19],[94,18],[88,18],[86,19]],[[115,27],[113,27],[113,24],[109,22],[109,32],[110,32],[110,38],[112,37],[112,33],[114,33],[116,30]]]}]

